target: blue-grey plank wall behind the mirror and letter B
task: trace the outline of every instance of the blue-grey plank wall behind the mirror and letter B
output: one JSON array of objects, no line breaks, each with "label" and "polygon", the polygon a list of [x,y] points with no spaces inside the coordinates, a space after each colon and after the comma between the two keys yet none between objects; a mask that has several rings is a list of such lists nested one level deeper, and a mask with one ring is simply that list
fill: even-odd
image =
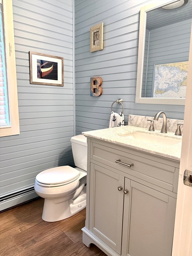
[{"label": "blue-grey plank wall behind the mirror and letter B", "polygon": [[[154,1],[75,0],[77,134],[108,128],[111,104],[118,98],[123,99],[125,124],[129,114],[154,116],[159,110],[168,118],[183,119],[184,106],[135,103],[140,7]],[[90,27],[101,22],[104,50],[90,52]],[[90,77],[94,76],[103,79],[99,97],[90,96]],[[120,105],[113,107],[121,111]]]}]

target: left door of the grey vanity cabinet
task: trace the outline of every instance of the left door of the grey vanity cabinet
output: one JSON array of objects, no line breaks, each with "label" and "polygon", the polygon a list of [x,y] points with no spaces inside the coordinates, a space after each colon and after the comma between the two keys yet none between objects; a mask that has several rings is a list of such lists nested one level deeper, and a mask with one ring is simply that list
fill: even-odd
[{"label": "left door of the grey vanity cabinet", "polygon": [[[122,187],[119,191],[118,187]],[[124,177],[91,164],[89,229],[121,254]]]}]

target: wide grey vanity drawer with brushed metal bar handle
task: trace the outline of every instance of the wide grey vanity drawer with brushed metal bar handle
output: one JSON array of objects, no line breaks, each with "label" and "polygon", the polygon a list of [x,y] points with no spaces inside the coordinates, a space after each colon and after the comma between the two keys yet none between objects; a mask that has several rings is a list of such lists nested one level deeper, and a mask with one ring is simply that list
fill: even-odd
[{"label": "wide grey vanity drawer with brushed metal bar handle", "polygon": [[[169,191],[176,192],[178,183],[177,168],[172,166],[171,162],[167,164],[169,162],[168,160],[158,159],[158,157],[153,157],[152,155],[150,155],[150,159],[148,158],[148,154],[125,147],[118,150],[95,142],[91,146],[91,159],[97,161],[98,165],[99,163],[103,163]],[[151,160],[151,158],[154,160]],[[119,159],[123,163],[134,164],[134,166],[127,167],[116,163],[115,160]]]}]

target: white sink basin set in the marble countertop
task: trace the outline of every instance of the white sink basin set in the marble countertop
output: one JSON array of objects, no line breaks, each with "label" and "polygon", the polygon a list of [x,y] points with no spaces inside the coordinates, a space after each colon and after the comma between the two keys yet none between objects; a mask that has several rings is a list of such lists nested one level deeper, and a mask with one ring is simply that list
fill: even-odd
[{"label": "white sink basin set in the marble countertop", "polygon": [[149,142],[156,145],[163,145],[163,146],[172,146],[179,142],[181,142],[181,139],[174,139],[167,136],[157,136],[154,134],[144,133],[144,132],[130,132],[125,134],[119,134],[122,137],[130,137],[134,138],[137,141],[144,141]]}]

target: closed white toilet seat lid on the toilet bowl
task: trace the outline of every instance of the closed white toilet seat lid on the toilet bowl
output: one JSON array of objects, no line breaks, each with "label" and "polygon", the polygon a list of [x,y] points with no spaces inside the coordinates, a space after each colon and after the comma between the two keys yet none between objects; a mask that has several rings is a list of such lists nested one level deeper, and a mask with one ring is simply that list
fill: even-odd
[{"label": "closed white toilet seat lid on the toilet bowl", "polygon": [[58,166],[40,172],[36,183],[43,187],[58,187],[69,184],[79,178],[80,172],[71,166]]}]

